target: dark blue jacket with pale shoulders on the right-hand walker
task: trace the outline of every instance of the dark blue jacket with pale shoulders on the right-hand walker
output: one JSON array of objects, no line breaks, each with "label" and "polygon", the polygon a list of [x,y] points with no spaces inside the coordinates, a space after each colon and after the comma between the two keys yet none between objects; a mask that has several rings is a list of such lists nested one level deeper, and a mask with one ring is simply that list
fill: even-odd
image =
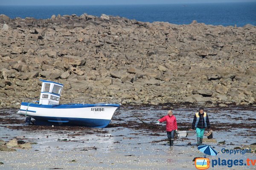
[{"label": "dark blue jacket with pale shoulders on the right-hand walker", "polygon": [[193,123],[192,123],[192,129],[195,128],[210,128],[210,122],[209,122],[209,118],[206,112],[204,112],[203,114],[197,112],[194,115],[194,119],[193,119]]}]

